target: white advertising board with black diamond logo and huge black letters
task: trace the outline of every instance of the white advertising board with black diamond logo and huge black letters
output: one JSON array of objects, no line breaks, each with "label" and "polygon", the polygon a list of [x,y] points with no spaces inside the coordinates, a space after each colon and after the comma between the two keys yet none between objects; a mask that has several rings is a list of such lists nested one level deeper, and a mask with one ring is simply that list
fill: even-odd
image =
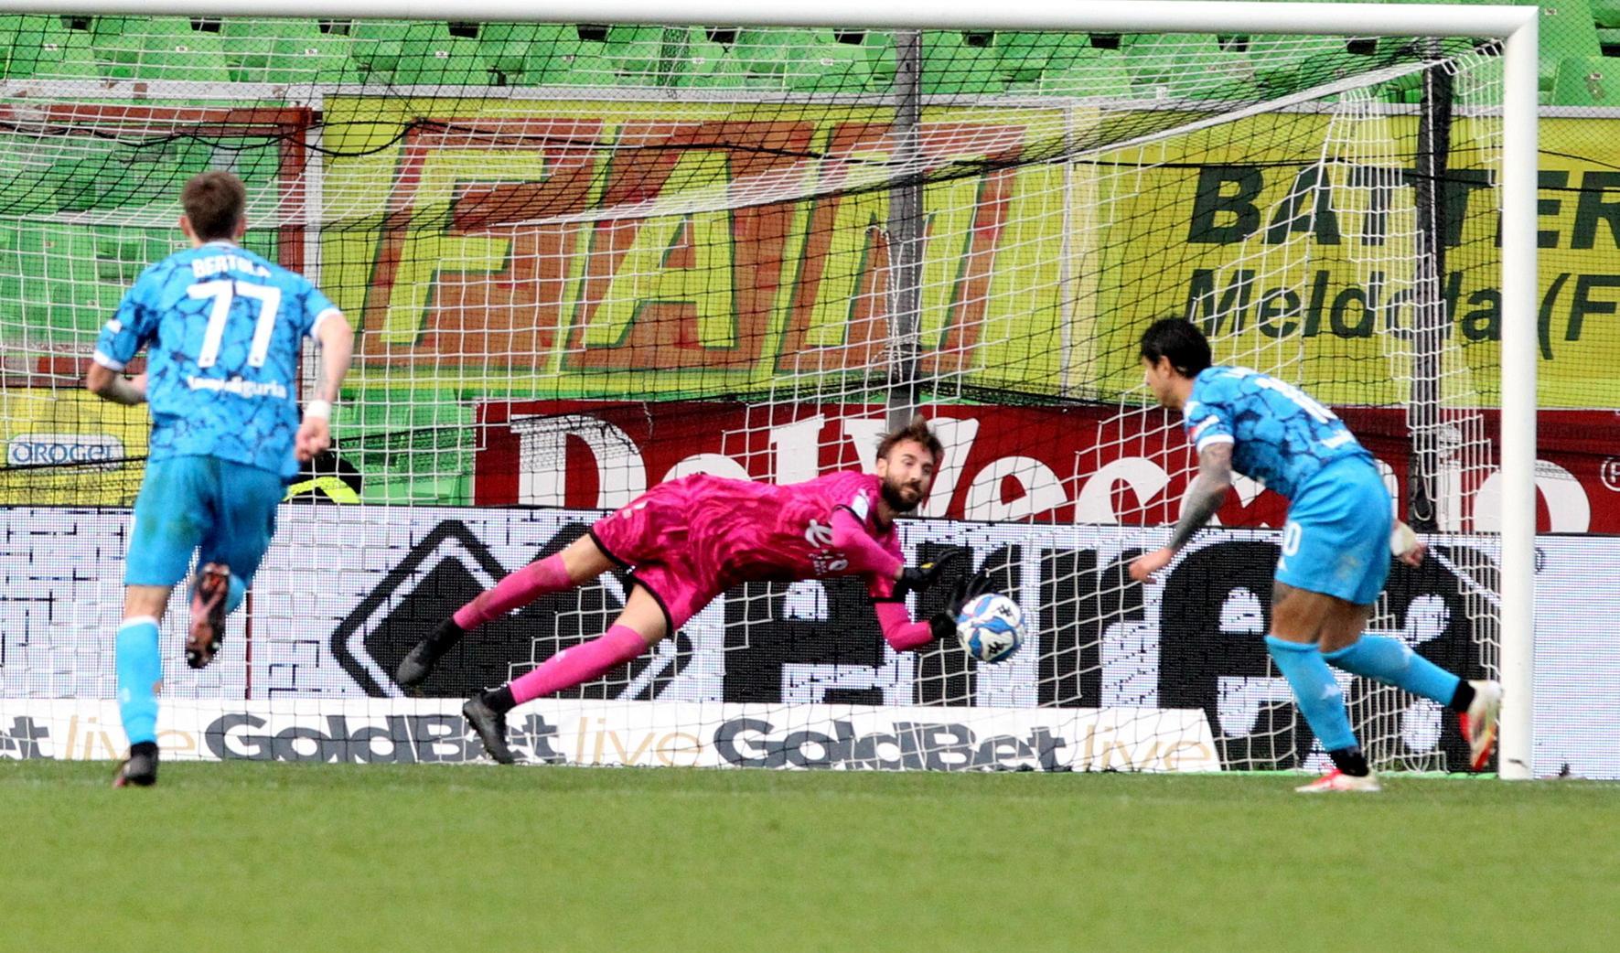
[{"label": "white advertising board with black diamond logo and huge black letters", "polygon": [[[175,596],[162,632],[164,705],[178,712],[204,702],[264,702],[271,713],[324,718],[360,702],[361,712],[392,713],[389,705],[405,700],[392,673],[418,639],[507,572],[580,538],[598,515],[601,511],[284,506],[248,611],[232,616],[225,648],[207,669],[185,668],[180,643],[188,614],[185,595]],[[19,507],[8,514],[6,538],[16,545],[0,548],[0,697],[31,705],[113,699],[112,642],[126,525],[126,514],[117,511]],[[902,520],[909,562],[946,546],[967,546],[974,567],[985,569],[993,585],[1021,605],[1029,637],[1017,655],[977,666],[954,640],[896,653],[883,642],[859,579],[753,583],[724,593],[674,639],[557,702],[692,703],[701,707],[710,728],[723,721],[718,705],[765,705],[773,712],[765,718],[771,728],[760,729],[766,737],[804,728],[782,721],[799,705],[1013,708],[1043,718],[1061,712],[1069,721],[1050,723],[1053,733],[1084,724],[1084,712],[1128,710],[1131,718],[1197,712],[1223,767],[1319,760],[1260,639],[1277,533],[1209,530],[1160,579],[1131,582],[1126,562],[1162,545],[1165,535],[1163,528],[1108,525]],[[49,558],[29,545],[42,538],[50,540]],[[1605,611],[1620,614],[1620,575],[1612,572],[1615,556],[1604,549],[1607,543],[1544,536],[1541,545],[1537,588],[1550,609],[1537,616],[1544,624],[1537,634],[1544,658],[1537,656],[1536,669],[1542,679],[1537,731],[1544,731],[1537,771],[1568,763],[1575,773],[1620,776],[1620,749],[1607,741],[1620,737],[1620,726],[1592,728],[1597,708],[1588,705],[1599,686],[1620,684],[1620,655],[1591,637],[1588,626]],[[1452,671],[1482,677],[1484,645],[1497,639],[1492,593],[1481,582],[1494,572],[1495,540],[1442,535],[1430,545],[1432,556],[1421,567],[1392,567],[1371,629],[1400,637]],[[480,627],[423,684],[426,697],[467,697],[599,635],[622,609],[627,585],[625,575],[612,572]],[[936,611],[940,598],[923,596],[914,613]],[[1580,608],[1581,618],[1565,619],[1557,606]],[[1427,767],[1461,763],[1466,744],[1437,705],[1364,679],[1346,677],[1345,692],[1353,715],[1367,726],[1364,742],[1380,757]],[[368,700],[381,707],[366,708]],[[514,724],[522,716],[523,710]],[[107,718],[100,731],[117,739],[117,721]],[[933,721],[969,724],[980,746],[987,733],[1027,742],[1034,731],[980,729],[954,715]],[[10,731],[13,750],[28,741],[26,726],[0,728]],[[53,737],[65,739],[65,731],[55,729]],[[842,737],[836,726],[815,731]],[[859,736],[868,729],[849,731]],[[1064,737],[1084,750],[1084,734],[1076,734],[1084,728],[1066,731]],[[84,744],[86,734],[75,737]],[[643,741],[625,736],[620,744]],[[595,744],[586,742],[590,749]],[[648,744],[656,749],[659,742]]]}]

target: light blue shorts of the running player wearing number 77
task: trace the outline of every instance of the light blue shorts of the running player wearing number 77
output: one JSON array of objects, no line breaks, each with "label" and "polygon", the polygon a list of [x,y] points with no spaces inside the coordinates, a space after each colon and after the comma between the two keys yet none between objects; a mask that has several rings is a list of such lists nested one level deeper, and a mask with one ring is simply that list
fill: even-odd
[{"label": "light blue shorts of the running player wearing number 77", "polygon": [[243,583],[264,559],[275,535],[280,475],[214,457],[165,457],[146,465],[134,498],[134,528],[125,559],[125,585],[175,585],[191,554],[224,562]]}]

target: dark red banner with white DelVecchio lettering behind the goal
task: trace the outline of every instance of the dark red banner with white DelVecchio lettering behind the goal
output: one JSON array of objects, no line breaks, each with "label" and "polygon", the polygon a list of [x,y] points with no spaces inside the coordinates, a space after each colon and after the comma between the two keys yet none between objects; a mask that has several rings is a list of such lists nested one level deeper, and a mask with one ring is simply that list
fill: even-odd
[{"label": "dark red banner with white DelVecchio lettering behind the goal", "polygon": [[[1403,408],[1340,415],[1379,459],[1392,499],[1405,501],[1411,464]],[[1163,525],[1179,515],[1196,460],[1179,415],[1103,407],[938,407],[944,444],[919,515],[967,520]],[[748,407],[724,402],[494,402],[478,408],[478,506],[612,509],[687,473],[795,483],[873,465],[883,408],[850,404]],[[1479,412],[1481,444],[1497,444],[1497,413]],[[1620,533],[1620,415],[1541,415],[1539,528]],[[1481,454],[1484,451],[1479,451]],[[1455,455],[1453,455],[1455,459]],[[1495,468],[1448,468],[1445,532],[1494,530]],[[1403,512],[1398,507],[1396,512]],[[1281,527],[1286,501],[1238,480],[1218,514],[1226,527]]]}]

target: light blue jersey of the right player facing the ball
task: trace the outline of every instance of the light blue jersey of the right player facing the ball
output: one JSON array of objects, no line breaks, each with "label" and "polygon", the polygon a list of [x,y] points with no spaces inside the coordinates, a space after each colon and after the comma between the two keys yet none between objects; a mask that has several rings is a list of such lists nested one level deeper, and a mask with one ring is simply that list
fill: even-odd
[{"label": "light blue jersey of the right player facing the ball", "polygon": [[1332,410],[1249,368],[1200,371],[1181,415],[1194,447],[1234,444],[1233,470],[1290,499],[1335,460],[1362,457],[1372,464],[1372,454]]}]

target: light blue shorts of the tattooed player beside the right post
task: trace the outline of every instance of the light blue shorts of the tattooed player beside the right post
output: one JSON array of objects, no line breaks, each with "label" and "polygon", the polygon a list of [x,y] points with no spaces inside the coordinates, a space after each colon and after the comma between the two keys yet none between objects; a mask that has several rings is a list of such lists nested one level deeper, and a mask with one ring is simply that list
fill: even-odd
[{"label": "light blue shorts of the tattooed player beside the right post", "polygon": [[1372,605],[1390,577],[1390,491],[1367,460],[1328,464],[1288,507],[1277,582]]}]

